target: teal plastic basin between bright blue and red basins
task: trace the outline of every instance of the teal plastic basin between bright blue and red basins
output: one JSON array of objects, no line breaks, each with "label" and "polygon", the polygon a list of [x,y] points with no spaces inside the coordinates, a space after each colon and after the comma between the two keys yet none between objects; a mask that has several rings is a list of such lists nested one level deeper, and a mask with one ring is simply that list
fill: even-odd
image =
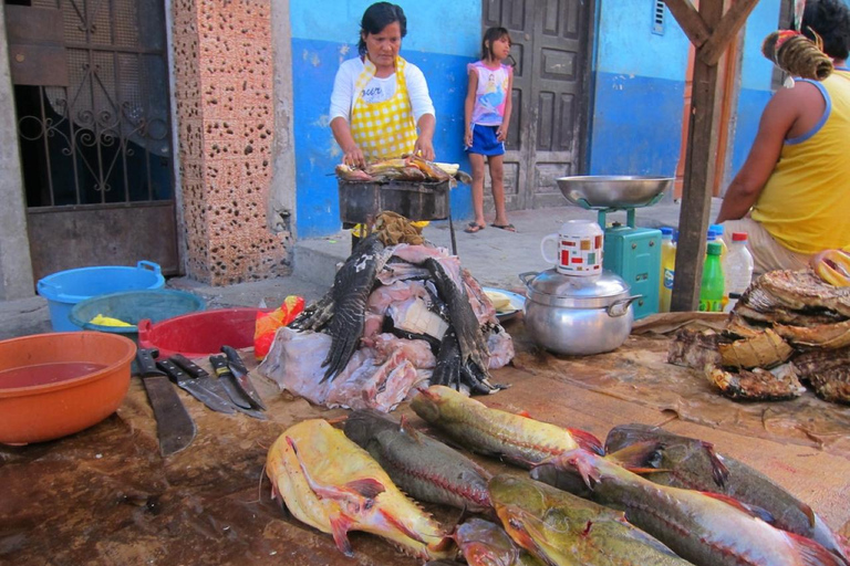
[{"label": "teal plastic basin between bright blue and red basins", "polygon": [[[122,291],[86,298],[71,308],[70,316],[73,324],[85,331],[121,334],[138,342],[139,321],[149,318],[158,323],[183,314],[203,311],[205,306],[201,297],[185,291],[149,289]],[[89,322],[99,314],[124,321],[132,326],[105,326]]]}]

